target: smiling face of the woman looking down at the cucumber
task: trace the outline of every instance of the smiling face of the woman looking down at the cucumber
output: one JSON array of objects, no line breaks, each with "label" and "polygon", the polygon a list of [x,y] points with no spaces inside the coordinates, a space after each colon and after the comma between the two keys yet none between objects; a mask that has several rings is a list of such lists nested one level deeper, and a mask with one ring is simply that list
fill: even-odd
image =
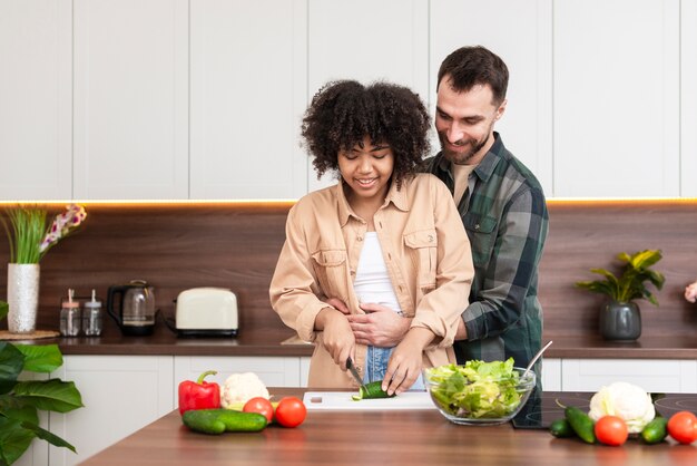
[{"label": "smiling face of the woman looking down at the cucumber", "polygon": [[338,152],[338,172],[353,192],[354,200],[383,201],[393,168],[392,148],[382,143],[373,144],[367,136],[350,151]]}]

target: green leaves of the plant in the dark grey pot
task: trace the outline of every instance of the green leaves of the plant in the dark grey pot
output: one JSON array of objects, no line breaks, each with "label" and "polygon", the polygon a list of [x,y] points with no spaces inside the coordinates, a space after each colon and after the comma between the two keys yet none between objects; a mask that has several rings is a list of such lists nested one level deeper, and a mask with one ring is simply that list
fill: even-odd
[{"label": "green leaves of the plant in the dark grey pot", "polygon": [[664,274],[649,269],[661,258],[660,250],[639,251],[632,255],[622,252],[617,254],[617,259],[625,263],[619,278],[605,269],[591,269],[592,273],[605,276],[605,280],[577,282],[576,285],[595,293],[607,294],[617,302],[646,299],[651,304],[658,305],[658,300],[646,288],[646,282],[652,283],[657,290],[664,287],[666,281]]}]

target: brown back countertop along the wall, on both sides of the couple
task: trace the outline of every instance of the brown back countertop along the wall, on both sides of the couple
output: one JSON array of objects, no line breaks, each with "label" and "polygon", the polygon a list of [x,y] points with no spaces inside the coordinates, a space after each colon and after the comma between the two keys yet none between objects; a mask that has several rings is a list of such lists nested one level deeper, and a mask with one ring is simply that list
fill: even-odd
[{"label": "brown back countertop along the wall, on both sides of the couple", "polygon": [[[289,340],[289,344],[288,344]],[[695,336],[641,337],[637,341],[607,341],[599,336],[544,336],[553,340],[546,358],[569,359],[697,359]],[[285,341],[285,343],[283,343]],[[246,329],[236,338],[176,338],[164,326],[149,337],[124,337],[109,328],[101,337],[52,338],[35,343],[57,343],[63,355],[134,356],[312,356],[313,346],[294,338],[292,330]],[[294,342],[294,343],[293,343]]]}]

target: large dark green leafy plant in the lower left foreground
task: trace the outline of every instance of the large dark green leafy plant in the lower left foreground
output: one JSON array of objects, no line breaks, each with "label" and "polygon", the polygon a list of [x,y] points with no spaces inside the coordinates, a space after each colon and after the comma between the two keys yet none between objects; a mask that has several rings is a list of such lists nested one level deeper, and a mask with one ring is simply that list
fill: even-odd
[{"label": "large dark green leafy plant in the lower left foreground", "polygon": [[[8,304],[0,301],[0,320]],[[50,373],[63,363],[57,344],[14,344],[0,341],[0,466],[19,459],[35,438],[76,452],[75,447],[39,427],[39,409],[68,412],[82,407],[73,382],[60,379],[18,380],[24,372]]]}]

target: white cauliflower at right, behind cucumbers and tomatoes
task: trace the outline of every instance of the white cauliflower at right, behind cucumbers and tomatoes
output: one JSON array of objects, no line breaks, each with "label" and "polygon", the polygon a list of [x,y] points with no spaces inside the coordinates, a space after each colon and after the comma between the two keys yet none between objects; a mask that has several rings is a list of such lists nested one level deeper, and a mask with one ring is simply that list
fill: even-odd
[{"label": "white cauliflower at right, behind cucumbers and tomatoes", "polygon": [[625,419],[630,434],[640,433],[656,417],[651,397],[641,387],[627,382],[613,382],[602,387],[590,399],[588,416],[598,420],[602,416]]}]

